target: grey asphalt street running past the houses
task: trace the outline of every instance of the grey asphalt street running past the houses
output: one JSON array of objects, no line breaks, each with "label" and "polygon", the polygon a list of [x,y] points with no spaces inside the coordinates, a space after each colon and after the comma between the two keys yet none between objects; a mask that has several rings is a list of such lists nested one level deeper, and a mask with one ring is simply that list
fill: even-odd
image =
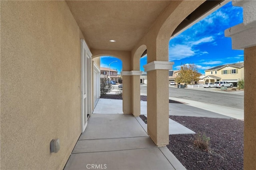
[{"label": "grey asphalt street running past the houses", "polygon": [[[147,93],[147,87],[140,86],[140,93]],[[200,101],[214,105],[233,107],[236,109],[244,109],[243,95],[217,93],[214,91],[200,91],[195,89],[169,88],[169,97]]]}]

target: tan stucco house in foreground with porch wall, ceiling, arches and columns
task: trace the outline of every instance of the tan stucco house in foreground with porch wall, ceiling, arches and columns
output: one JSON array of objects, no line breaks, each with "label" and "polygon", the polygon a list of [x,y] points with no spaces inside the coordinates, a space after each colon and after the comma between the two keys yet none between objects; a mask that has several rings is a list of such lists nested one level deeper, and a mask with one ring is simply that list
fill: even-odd
[{"label": "tan stucco house in foreground with porch wall, ceiling, arches and columns", "polygon": [[[123,113],[138,117],[140,57],[146,49],[147,132],[156,146],[169,144],[169,93],[163,85],[173,64],[169,40],[225,3],[0,1],[1,169],[64,168],[99,97],[100,56],[122,60]],[[244,92],[244,169],[250,170],[256,168],[256,19],[248,7],[256,5],[233,5],[246,14],[225,35],[234,49],[244,49],[244,79],[251,84]],[[56,138],[60,150],[54,153],[50,142]]]}]

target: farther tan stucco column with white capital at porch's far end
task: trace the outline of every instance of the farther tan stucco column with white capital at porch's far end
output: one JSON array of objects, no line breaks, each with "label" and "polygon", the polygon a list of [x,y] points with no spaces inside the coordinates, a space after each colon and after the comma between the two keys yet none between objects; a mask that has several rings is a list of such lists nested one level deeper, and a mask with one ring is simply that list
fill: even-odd
[{"label": "farther tan stucco column with white capital at porch's far end", "polygon": [[[123,81],[124,81],[124,77],[126,77],[126,79],[130,79],[130,87],[131,87],[130,97],[131,97],[131,105],[132,105],[131,113],[135,117],[140,115],[140,75],[141,73],[142,73],[141,71],[122,71],[121,73],[123,75]],[[124,91],[125,91],[125,94],[128,92],[127,90],[124,90],[124,88],[126,88],[126,86],[124,87],[124,83],[123,83],[123,100],[124,100]]]}]

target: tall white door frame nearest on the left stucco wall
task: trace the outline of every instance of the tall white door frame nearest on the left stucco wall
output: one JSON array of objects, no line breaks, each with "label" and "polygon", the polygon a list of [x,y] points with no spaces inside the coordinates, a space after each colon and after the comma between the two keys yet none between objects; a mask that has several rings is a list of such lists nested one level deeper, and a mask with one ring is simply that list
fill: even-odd
[{"label": "tall white door frame nearest on the left stucco wall", "polygon": [[81,39],[81,132],[87,126],[87,114],[91,114],[91,60],[90,52],[86,42]]}]

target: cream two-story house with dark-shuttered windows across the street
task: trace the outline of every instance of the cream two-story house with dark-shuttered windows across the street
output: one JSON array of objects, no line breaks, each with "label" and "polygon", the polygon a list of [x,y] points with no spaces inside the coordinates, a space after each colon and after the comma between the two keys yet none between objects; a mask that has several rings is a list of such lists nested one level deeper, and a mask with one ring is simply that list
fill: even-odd
[{"label": "cream two-story house with dark-shuttered windows across the street", "polygon": [[216,81],[228,81],[237,86],[239,79],[244,78],[244,63],[234,63],[218,65],[205,70],[204,83],[214,83]]}]

